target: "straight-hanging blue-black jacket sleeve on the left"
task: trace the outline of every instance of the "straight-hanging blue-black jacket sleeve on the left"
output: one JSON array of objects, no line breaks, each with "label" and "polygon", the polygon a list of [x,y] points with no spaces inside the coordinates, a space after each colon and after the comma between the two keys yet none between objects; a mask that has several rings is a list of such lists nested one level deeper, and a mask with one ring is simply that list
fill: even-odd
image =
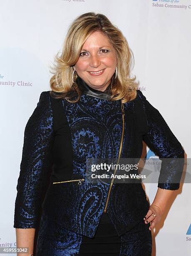
[{"label": "straight-hanging blue-black jacket sleeve on the left", "polygon": [[49,91],[40,94],[24,132],[15,200],[14,228],[37,228],[53,146],[53,111]]}]

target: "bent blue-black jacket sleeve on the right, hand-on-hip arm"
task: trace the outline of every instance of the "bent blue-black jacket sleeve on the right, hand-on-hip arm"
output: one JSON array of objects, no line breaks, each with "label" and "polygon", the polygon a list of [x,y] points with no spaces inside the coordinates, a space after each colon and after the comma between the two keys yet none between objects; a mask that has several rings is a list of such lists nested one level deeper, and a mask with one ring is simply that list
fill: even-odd
[{"label": "bent blue-black jacket sleeve on the right, hand-on-hip arm", "polygon": [[143,135],[143,141],[162,161],[158,187],[176,190],[180,187],[184,150],[162,115],[146,100],[140,90],[138,96],[142,100],[148,124],[148,131]]}]

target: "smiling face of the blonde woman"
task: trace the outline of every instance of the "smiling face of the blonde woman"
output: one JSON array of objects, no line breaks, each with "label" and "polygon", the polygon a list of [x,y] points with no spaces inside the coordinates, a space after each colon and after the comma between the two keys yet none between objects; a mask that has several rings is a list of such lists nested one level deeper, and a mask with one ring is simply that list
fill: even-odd
[{"label": "smiling face of the blonde woman", "polygon": [[[116,54],[108,37],[95,31],[85,41],[74,69],[90,87],[104,91],[116,70],[116,62]],[[90,73],[98,71],[101,72]]]}]

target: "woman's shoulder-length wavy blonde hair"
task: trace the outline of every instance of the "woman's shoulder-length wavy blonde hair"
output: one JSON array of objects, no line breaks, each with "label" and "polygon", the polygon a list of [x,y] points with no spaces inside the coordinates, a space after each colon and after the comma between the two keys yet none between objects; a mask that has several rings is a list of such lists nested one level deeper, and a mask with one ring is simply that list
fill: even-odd
[{"label": "woman's shoulder-length wavy blonde hair", "polygon": [[[55,98],[65,98],[69,102],[78,102],[81,91],[77,82],[73,83],[73,66],[78,61],[80,51],[88,36],[94,31],[100,31],[107,36],[117,58],[117,78],[111,78],[111,100],[121,100],[123,103],[134,100],[137,96],[138,83],[136,76],[129,77],[131,64],[134,59],[126,38],[120,29],[101,13],[84,13],[71,23],[63,43],[62,52],[55,55],[54,67],[50,73],[50,95]],[[114,73],[115,74],[115,73]],[[75,91],[78,95],[76,100],[67,97],[68,92]]]}]

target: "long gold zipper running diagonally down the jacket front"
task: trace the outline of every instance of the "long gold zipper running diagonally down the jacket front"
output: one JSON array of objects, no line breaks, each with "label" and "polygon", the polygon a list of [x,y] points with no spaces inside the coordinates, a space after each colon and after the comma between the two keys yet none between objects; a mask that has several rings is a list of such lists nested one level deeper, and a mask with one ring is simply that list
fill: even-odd
[{"label": "long gold zipper running diagonally down the jacket front", "polygon": [[[125,113],[124,113],[124,107],[123,107],[122,100],[121,100],[121,112],[122,112],[123,126],[122,126],[122,135],[121,135],[121,141],[120,141],[120,146],[119,146],[119,153],[118,153],[117,164],[118,164],[119,159],[121,157],[121,152],[122,152],[122,147],[123,147],[124,127],[125,127]],[[117,172],[117,166],[116,166],[116,169],[114,170],[113,174],[115,175],[116,172]],[[112,180],[111,180],[111,184],[110,184],[110,187],[109,187],[108,196],[107,196],[107,200],[106,200],[106,205],[105,205],[105,208],[103,210],[104,213],[106,213],[106,211],[107,211],[109,197],[110,197],[111,189],[112,189],[112,186],[113,186],[113,181],[114,181],[114,178],[112,178]]]}]

